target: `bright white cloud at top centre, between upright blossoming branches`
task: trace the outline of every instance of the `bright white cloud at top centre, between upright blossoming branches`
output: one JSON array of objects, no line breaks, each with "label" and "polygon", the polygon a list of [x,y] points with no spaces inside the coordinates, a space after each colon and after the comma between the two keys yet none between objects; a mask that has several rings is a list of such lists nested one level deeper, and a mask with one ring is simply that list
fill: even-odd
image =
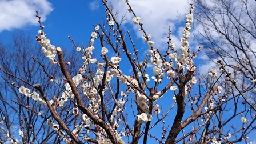
[{"label": "bright white cloud at top centre, between upright blossoming branches", "polygon": [[[120,14],[126,13],[127,21],[124,23],[133,24],[133,15],[128,13],[128,6],[124,1],[114,0],[111,1],[111,3],[113,3],[114,7],[118,7]],[[179,30],[179,27],[185,26],[185,23],[177,25],[177,22],[180,22],[178,13],[181,14],[183,19],[185,19],[185,14],[189,13],[190,7],[189,2],[177,0],[140,0],[129,1],[129,4],[137,17],[141,17],[141,22],[143,22],[143,27],[145,28],[146,33],[152,34],[155,46],[159,47],[159,49],[166,49],[167,47],[163,44],[166,44],[167,42],[169,25],[171,26],[171,31],[173,31],[173,33]],[[133,24],[133,28],[134,30],[137,30],[137,37],[142,37],[142,31],[138,31],[139,26]],[[181,31],[178,31],[178,33],[181,33]],[[173,35],[172,39],[177,46],[180,44],[180,38],[175,38]]]}]

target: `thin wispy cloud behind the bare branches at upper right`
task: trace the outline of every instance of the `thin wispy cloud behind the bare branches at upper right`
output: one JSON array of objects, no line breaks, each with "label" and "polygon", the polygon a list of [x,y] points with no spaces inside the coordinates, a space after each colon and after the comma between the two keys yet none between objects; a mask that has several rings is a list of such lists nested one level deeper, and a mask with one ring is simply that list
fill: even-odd
[{"label": "thin wispy cloud behind the bare branches at upper right", "polygon": [[[255,33],[250,32],[254,31],[255,28],[252,27],[254,22],[249,18],[250,15],[254,15],[254,12],[251,10],[254,9],[256,3],[254,1],[234,1],[231,3],[225,1],[224,3],[215,3],[215,1],[210,0],[205,0],[201,3],[209,6],[206,9],[214,9],[214,11],[210,12],[211,14],[209,15],[211,16],[209,19],[205,15],[195,15],[195,19],[203,21],[203,25],[202,23],[196,23],[194,25],[195,29],[203,34],[203,36],[196,31],[194,31],[194,34],[199,39],[198,42],[205,46],[202,52],[206,52],[207,55],[210,55],[214,59],[210,59],[207,55],[201,55],[199,58],[202,59],[203,64],[199,67],[199,70],[202,72],[206,70],[206,67],[214,66],[214,62],[208,63],[207,60],[216,62],[217,59],[222,59],[223,63],[238,67],[242,67],[240,65],[241,63],[248,65],[246,59],[250,59],[251,62],[256,61],[254,56],[256,51]],[[200,8],[198,6],[198,12],[201,11]],[[222,9],[226,11],[225,14],[218,13]],[[243,9],[249,10],[245,11]],[[197,10],[197,6],[195,6],[195,10]],[[205,11],[201,11],[201,13],[207,14]],[[201,47],[204,48],[203,46]],[[222,55],[222,58],[218,57],[219,54]],[[247,55],[249,55],[249,58]],[[246,66],[246,69],[251,70],[251,67]]]}]

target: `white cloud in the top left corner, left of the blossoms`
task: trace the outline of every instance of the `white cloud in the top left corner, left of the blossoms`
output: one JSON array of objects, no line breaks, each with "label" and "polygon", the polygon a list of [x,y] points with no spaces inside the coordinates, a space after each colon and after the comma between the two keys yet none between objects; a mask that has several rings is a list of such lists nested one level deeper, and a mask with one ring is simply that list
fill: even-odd
[{"label": "white cloud in the top left corner, left of the blossoms", "polygon": [[47,0],[0,1],[0,33],[3,30],[37,25],[36,10],[38,10],[39,15],[42,17],[41,21],[45,21],[46,15],[53,11],[53,7]]}]

